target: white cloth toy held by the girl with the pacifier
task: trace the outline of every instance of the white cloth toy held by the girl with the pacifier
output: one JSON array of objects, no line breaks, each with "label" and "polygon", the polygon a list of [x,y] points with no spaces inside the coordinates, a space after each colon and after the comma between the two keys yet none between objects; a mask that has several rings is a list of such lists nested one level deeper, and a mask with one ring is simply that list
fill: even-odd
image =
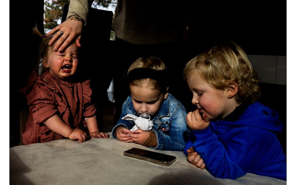
[{"label": "white cloth toy held by the girl with the pacifier", "polygon": [[134,120],[135,125],[130,131],[135,131],[141,129],[142,131],[149,131],[153,127],[153,121],[143,117],[137,117],[133,114],[127,114],[125,117],[121,118],[122,120]]}]

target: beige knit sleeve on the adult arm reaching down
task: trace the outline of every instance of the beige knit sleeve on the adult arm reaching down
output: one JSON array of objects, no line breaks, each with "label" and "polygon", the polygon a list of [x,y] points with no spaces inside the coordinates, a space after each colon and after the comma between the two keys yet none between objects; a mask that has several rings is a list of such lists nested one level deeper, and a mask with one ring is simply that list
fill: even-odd
[{"label": "beige knit sleeve on the adult arm reaching down", "polygon": [[70,16],[78,15],[84,20],[84,26],[85,26],[87,15],[88,15],[88,9],[90,7],[88,3],[89,3],[88,0],[70,0],[67,19]]}]

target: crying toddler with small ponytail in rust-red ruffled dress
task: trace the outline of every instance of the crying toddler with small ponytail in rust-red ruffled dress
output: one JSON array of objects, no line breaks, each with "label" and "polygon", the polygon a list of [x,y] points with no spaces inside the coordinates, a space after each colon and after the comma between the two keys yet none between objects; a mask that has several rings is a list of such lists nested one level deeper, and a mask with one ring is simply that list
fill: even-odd
[{"label": "crying toddler with small ponytail in rust-red ruffled dress", "polygon": [[38,69],[21,89],[29,105],[29,117],[22,133],[24,145],[63,138],[78,142],[86,141],[88,136],[108,138],[107,133],[98,129],[90,81],[77,77],[76,44],[70,44],[63,52],[53,51],[48,45],[51,37],[43,37],[37,28],[33,31],[41,36],[42,42]]}]

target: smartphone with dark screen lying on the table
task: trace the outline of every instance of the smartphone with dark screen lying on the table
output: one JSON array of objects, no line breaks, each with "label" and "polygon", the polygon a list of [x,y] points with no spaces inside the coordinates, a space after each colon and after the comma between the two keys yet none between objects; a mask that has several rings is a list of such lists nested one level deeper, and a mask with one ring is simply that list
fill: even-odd
[{"label": "smartphone with dark screen lying on the table", "polygon": [[131,148],[123,152],[123,155],[141,159],[144,161],[150,161],[163,166],[168,166],[176,161],[176,157],[173,155],[162,154],[159,152],[153,152],[150,150],[144,150],[141,148]]}]

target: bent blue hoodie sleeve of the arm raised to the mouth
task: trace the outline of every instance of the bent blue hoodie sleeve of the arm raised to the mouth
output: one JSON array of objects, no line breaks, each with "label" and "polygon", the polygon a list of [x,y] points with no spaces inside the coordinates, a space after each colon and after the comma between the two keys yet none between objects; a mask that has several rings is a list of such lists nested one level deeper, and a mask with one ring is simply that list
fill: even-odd
[{"label": "bent blue hoodie sleeve of the arm raised to the mouth", "polygon": [[[236,135],[236,138],[244,138],[245,141],[247,141],[247,133],[242,134],[244,136],[240,135],[238,137],[238,135]],[[246,174],[246,172],[244,172],[244,170],[237,164],[237,161],[241,159],[241,153],[246,151],[247,148],[244,141],[228,140],[227,146],[225,147],[218,140],[216,134],[212,133],[210,127],[207,127],[204,130],[191,131],[190,143],[188,143],[185,148],[186,154],[186,150],[192,145],[192,137],[196,138],[193,142],[194,150],[198,152],[204,160],[206,169],[213,176],[218,178],[236,179]]]}]

